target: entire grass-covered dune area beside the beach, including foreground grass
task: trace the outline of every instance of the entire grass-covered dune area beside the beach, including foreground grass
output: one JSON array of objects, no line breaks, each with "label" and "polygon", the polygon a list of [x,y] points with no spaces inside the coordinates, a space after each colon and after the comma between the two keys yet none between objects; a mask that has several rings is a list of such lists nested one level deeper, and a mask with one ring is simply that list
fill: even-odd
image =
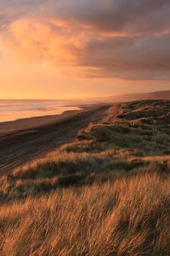
[{"label": "entire grass-covered dune area beside the beach, including foreground grass", "polygon": [[170,101],[113,106],[0,180],[0,255],[170,255]]}]

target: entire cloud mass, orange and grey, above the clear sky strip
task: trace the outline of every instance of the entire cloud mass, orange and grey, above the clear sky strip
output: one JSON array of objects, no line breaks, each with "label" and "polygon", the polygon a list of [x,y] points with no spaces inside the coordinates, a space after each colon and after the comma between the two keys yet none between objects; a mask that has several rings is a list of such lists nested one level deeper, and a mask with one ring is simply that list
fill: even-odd
[{"label": "entire cloud mass, orange and grey, above the clear sky strip", "polygon": [[6,0],[0,9],[0,36],[21,61],[170,79],[169,0]]}]

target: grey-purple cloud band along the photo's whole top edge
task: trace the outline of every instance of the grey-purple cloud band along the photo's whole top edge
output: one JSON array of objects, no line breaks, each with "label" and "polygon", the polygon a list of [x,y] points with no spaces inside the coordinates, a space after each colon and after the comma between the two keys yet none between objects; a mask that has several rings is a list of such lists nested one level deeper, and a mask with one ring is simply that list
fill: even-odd
[{"label": "grey-purple cloud band along the photo's whole top edge", "polygon": [[114,33],[160,33],[170,29],[169,0],[6,0],[0,22],[34,14],[41,18],[80,22]]}]

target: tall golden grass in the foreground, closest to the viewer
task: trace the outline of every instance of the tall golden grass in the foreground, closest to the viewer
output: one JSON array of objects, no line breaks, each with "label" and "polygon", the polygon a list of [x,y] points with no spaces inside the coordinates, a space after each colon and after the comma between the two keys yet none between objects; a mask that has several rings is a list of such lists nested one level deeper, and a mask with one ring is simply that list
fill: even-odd
[{"label": "tall golden grass in the foreground, closest to the viewer", "polygon": [[0,255],[169,255],[170,179],[57,189],[0,208]]}]

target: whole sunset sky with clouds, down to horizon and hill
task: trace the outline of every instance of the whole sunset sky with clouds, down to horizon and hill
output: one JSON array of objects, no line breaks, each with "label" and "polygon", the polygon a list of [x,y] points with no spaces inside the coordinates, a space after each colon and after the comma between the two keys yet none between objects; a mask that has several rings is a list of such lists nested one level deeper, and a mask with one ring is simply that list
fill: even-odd
[{"label": "whole sunset sky with clouds, down to horizon and hill", "polygon": [[170,90],[169,0],[0,0],[0,98]]}]

